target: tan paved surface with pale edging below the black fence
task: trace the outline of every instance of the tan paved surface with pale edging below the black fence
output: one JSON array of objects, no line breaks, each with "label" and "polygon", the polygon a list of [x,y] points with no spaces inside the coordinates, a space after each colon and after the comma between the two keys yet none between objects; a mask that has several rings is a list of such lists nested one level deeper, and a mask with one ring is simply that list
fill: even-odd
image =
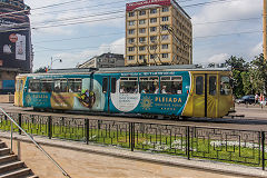
[{"label": "tan paved surface with pale edging below the black fence", "polygon": [[[22,160],[40,178],[62,175],[23,136],[21,142]],[[0,139],[9,141],[9,134],[0,132]],[[176,177],[176,178],[233,178],[267,177],[267,171],[211,161],[187,160],[179,157],[147,154],[129,150],[83,145],[80,142],[34,138],[58,160],[72,178],[89,177]],[[24,142],[26,141],[26,142]],[[16,141],[14,141],[16,142]],[[16,148],[16,147],[14,147]],[[34,161],[32,161],[32,158]],[[41,170],[41,171],[40,171]]]}]

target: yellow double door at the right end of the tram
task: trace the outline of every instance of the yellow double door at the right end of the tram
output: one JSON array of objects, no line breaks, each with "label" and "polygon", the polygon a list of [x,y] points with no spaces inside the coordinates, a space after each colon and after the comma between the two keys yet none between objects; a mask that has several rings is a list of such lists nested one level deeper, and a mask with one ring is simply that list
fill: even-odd
[{"label": "yellow double door at the right end of the tram", "polygon": [[195,75],[194,117],[216,118],[218,110],[218,85],[216,75]]}]

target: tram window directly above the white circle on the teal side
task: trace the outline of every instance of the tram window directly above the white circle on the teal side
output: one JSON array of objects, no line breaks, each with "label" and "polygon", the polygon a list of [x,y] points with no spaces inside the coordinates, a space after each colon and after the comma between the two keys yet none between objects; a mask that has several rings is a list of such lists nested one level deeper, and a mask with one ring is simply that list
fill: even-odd
[{"label": "tram window directly above the white circle on the teal side", "polygon": [[120,78],[120,93],[138,93],[137,77]]}]

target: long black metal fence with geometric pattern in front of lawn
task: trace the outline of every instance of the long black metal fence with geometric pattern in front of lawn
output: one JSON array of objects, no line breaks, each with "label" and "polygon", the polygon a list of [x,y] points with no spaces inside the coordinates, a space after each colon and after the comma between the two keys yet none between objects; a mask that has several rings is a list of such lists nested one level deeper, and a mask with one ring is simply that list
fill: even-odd
[{"label": "long black metal fence with geometric pattern in front of lawn", "polygon": [[[267,131],[263,130],[9,115],[32,136],[266,168]],[[0,130],[10,131],[10,122],[0,116]]]}]

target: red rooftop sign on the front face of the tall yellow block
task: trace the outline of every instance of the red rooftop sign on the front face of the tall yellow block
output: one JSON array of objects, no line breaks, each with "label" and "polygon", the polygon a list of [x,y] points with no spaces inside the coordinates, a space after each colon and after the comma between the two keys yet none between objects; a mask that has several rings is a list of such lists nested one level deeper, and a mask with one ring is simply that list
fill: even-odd
[{"label": "red rooftop sign on the front face of the tall yellow block", "polygon": [[170,6],[171,1],[170,0],[146,0],[146,1],[127,3],[126,11],[132,11],[139,7],[150,6],[150,4]]}]

